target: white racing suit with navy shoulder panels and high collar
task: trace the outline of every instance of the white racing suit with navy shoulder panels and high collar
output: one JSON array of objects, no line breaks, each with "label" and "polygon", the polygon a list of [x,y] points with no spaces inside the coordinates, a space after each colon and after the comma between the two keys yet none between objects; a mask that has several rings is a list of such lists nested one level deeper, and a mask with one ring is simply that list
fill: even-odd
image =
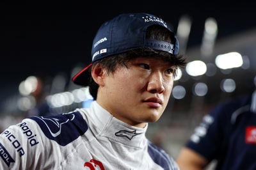
[{"label": "white racing suit with navy shoulder panels and high collar", "polygon": [[117,120],[97,102],[26,118],[0,135],[0,169],[179,169],[146,130]]}]

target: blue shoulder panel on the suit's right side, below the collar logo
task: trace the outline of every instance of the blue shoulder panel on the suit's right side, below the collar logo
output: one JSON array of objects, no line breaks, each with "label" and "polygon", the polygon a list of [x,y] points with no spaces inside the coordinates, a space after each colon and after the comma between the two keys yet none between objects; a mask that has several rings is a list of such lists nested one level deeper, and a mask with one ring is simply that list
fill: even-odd
[{"label": "blue shoulder panel on the suit's right side, below the collar logo", "polygon": [[148,141],[148,154],[152,160],[154,160],[157,165],[163,167],[164,170],[177,169],[177,166],[175,166],[169,155],[150,141]]}]

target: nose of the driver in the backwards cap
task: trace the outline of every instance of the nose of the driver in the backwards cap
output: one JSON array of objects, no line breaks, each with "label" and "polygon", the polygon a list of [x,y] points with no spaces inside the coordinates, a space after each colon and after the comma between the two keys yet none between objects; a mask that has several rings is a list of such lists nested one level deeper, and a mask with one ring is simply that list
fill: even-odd
[{"label": "nose of the driver in the backwards cap", "polygon": [[163,75],[160,72],[154,72],[148,79],[147,91],[150,93],[163,93]]}]

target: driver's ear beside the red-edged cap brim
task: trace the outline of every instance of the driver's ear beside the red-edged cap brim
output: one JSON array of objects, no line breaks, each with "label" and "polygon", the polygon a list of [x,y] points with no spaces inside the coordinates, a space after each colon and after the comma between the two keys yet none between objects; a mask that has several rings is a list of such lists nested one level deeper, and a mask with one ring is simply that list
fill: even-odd
[{"label": "driver's ear beside the red-edged cap brim", "polygon": [[106,69],[102,68],[102,66],[100,65],[93,66],[92,78],[97,84],[99,84],[99,86],[105,85],[105,81],[104,81],[105,77],[106,77]]}]

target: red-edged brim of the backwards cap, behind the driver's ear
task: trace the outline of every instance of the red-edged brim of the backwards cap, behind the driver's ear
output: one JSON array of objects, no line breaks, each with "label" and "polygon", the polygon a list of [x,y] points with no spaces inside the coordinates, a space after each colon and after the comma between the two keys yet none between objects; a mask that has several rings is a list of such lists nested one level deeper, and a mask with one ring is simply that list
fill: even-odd
[{"label": "red-edged brim of the backwards cap, behind the driver's ear", "polygon": [[76,73],[76,75],[74,75],[74,77],[72,78],[72,82],[80,86],[88,86],[90,81],[90,66],[92,66],[92,63],[86,66],[80,72]]}]

